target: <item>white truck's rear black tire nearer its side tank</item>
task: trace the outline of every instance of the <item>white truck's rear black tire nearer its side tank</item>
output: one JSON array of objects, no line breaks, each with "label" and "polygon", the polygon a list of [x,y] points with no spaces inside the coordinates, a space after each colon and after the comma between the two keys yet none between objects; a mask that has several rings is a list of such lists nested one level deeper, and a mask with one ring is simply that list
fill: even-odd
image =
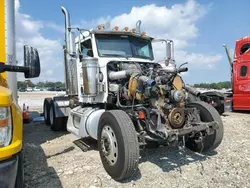
[{"label": "white truck's rear black tire nearer its side tank", "polygon": [[[66,130],[68,117],[56,117],[54,101],[50,101],[50,128],[52,131],[64,131]],[[51,117],[51,115],[53,117]]]}]

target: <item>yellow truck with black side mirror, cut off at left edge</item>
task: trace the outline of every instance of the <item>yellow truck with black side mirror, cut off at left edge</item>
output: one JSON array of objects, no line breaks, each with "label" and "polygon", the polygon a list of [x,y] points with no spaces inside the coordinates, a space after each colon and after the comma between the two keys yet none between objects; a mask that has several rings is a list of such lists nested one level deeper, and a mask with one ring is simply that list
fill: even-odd
[{"label": "yellow truck with black side mirror, cut off at left edge", "polygon": [[16,72],[25,78],[40,75],[37,49],[24,46],[24,66],[17,66],[15,0],[0,0],[0,187],[21,188],[23,120],[17,101]]}]

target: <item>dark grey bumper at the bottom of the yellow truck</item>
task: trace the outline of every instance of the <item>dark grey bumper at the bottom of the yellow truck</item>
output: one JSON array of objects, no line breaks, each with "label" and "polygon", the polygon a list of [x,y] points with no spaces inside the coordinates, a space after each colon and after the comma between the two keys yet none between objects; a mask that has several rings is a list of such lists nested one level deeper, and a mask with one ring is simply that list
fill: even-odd
[{"label": "dark grey bumper at the bottom of the yellow truck", "polygon": [[15,155],[7,160],[0,161],[1,188],[12,188],[15,186],[18,169],[18,157],[18,155]]}]

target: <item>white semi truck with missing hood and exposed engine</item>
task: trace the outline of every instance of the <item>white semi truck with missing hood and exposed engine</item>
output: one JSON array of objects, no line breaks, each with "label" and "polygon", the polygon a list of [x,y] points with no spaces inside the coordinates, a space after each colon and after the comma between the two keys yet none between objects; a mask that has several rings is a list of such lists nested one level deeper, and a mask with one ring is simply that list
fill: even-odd
[{"label": "white semi truck with missing hood and exposed engine", "polygon": [[[120,181],[133,176],[139,149],[149,143],[183,144],[193,151],[216,149],[223,139],[219,113],[189,101],[173,58],[173,41],[154,39],[135,28],[72,28],[65,15],[66,95],[44,99],[45,123],[79,138],[97,140],[106,172]],[[73,31],[77,36],[74,37]],[[166,43],[164,64],[154,60],[152,43]]]}]

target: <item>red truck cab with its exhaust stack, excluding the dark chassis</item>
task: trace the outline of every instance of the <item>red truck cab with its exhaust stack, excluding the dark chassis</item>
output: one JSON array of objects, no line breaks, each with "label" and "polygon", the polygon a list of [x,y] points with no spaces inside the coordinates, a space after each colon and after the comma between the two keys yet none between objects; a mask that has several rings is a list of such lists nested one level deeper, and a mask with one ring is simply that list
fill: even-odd
[{"label": "red truck cab with its exhaust stack, excluding the dark chassis", "polygon": [[231,68],[232,91],[227,97],[232,99],[232,110],[250,110],[250,36],[236,41],[233,60],[223,46]]}]

